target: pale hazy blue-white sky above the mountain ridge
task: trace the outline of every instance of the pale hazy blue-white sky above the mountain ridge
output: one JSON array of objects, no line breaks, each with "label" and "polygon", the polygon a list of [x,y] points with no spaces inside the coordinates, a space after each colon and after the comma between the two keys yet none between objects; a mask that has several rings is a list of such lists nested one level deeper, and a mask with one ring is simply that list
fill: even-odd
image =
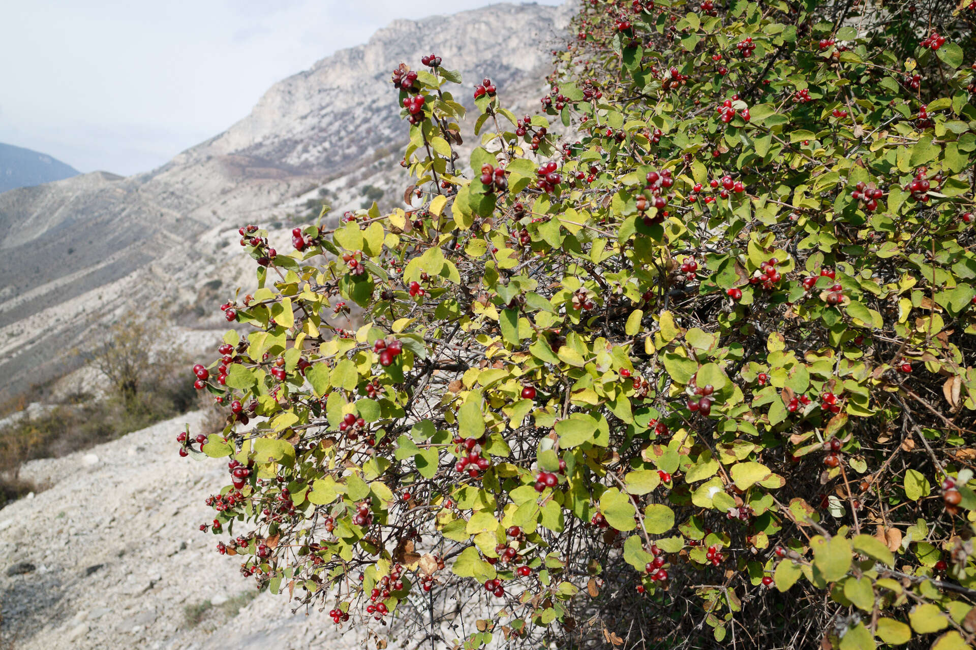
[{"label": "pale hazy blue-white sky above the mountain ridge", "polygon": [[392,19],[489,2],[0,0],[0,142],[81,172],[147,172]]}]

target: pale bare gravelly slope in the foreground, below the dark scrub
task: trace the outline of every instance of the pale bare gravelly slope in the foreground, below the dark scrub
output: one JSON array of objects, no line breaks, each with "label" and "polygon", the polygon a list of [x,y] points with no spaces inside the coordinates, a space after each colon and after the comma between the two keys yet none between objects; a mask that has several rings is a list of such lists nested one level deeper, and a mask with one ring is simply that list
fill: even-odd
[{"label": "pale bare gravelly slope in the foreground, below the dark scrub", "polygon": [[175,432],[201,417],[22,468],[49,487],[0,510],[0,647],[358,647],[358,632],[341,637],[324,613],[255,598],[217,538],[196,530],[226,478],[220,461],[177,454]]}]

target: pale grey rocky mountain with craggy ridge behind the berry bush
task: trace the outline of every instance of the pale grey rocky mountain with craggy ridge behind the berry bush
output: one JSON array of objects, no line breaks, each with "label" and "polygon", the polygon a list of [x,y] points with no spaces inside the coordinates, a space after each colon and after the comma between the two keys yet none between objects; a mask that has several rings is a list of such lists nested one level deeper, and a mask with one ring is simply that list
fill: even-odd
[{"label": "pale grey rocky mountain with craggy ridge behind the berry bush", "polygon": [[395,20],[275,84],[248,117],[157,170],[0,194],[0,401],[64,373],[72,362],[63,351],[126,309],[220,325],[204,308],[252,284],[238,226],[269,226],[288,249],[287,229],[323,201],[335,217],[364,197],[392,206],[402,196],[408,130],[389,83],[397,64],[436,53],[461,71],[466,102],[471,82],[489,76],[509,107],[532,111],[570,14],[497,4]]}]

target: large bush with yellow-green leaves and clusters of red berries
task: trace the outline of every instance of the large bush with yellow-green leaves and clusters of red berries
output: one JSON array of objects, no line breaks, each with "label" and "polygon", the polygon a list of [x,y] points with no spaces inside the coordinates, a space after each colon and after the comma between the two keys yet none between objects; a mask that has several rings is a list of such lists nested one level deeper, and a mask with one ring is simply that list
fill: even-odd
[{"label": "large bush with yellow-green leaves and clusters of red berries", "polygon": [[971,642],[973,12],[865,4],[586,3],[463,158],[395,71],[409,209],[242,232],[220,550],[471,648]]}]

